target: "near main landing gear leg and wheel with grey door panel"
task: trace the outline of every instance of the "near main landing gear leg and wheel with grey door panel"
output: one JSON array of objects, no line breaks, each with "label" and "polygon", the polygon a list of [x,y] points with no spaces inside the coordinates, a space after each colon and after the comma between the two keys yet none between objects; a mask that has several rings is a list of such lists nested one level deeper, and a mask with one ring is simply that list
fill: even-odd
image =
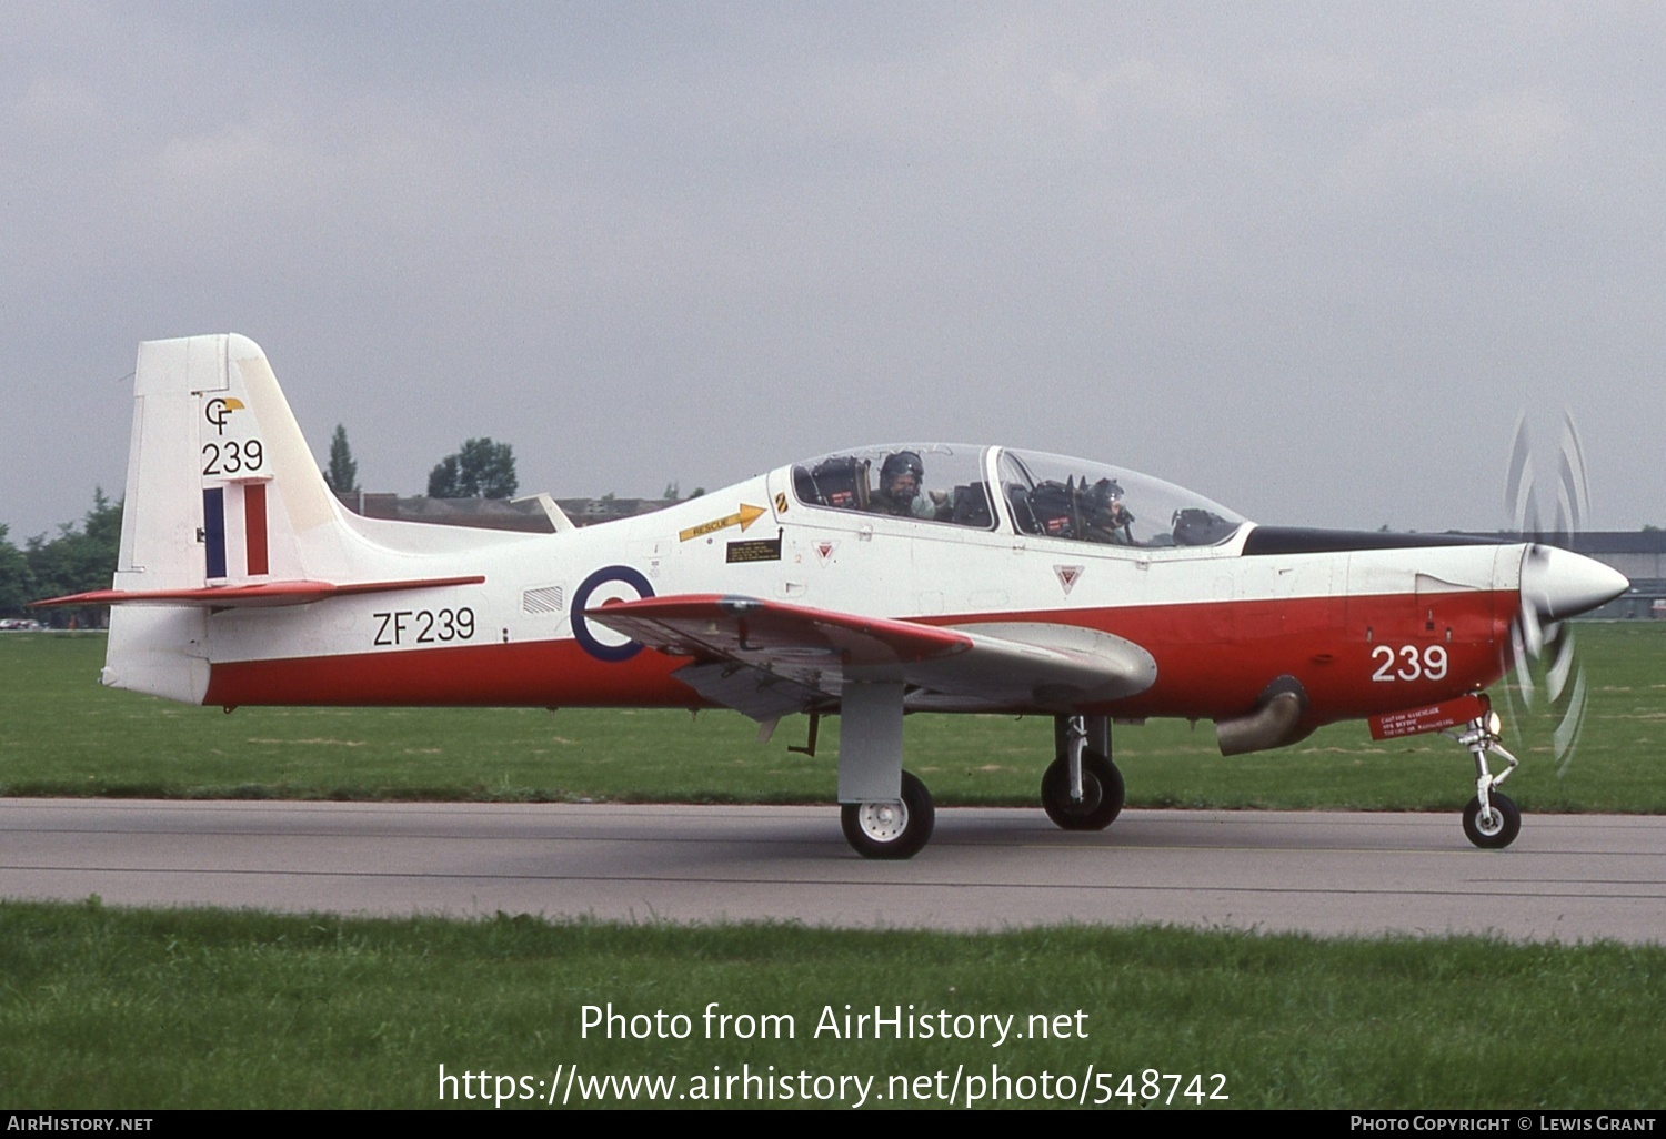
[{"label": "near main landing gear leg and wheel with grey door panel", "polygon": [[931,793],[903,771],[901,681],[846,681],[838,799],[845,841],[863,858],[913,858],[931,841]]}]

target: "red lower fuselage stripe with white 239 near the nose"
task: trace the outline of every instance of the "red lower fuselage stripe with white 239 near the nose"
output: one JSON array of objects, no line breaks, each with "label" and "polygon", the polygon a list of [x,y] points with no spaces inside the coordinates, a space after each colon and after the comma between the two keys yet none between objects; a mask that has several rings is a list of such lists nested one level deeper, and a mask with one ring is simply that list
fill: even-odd
[{"label": "red lower fuselage stripe with white 239 near the nose", "polygon": [[[1314,721],[1434,704],[1504,674],[1516,594],[1334,596],[933,618],[1070,623],[1141,644],[1156,683],[1103,708],[1123,716],[1213,719],[1248,711],[1289,674]],[[453,704],[695,708],[671,673],[688,658],[643,651],[605,663],[576,641],[523,641],[213,664],[207,704]]]}]

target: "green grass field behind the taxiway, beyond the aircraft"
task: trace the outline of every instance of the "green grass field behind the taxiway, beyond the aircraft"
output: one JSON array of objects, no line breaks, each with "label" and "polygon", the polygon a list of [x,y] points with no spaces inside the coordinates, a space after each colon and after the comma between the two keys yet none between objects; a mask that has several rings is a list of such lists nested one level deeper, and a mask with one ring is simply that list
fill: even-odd
[{"label": "green grass field behind the taxiway, beyond the aircraft", "polygon": [[[1581,624],[1591,709],[1558,769],[1549,718],[1509,739],[1528,811],[1666,811],[1666,623]],[[815,759],[735,713],[187,708],[97,684],[98,634],[0,636],[0,794],[831,803],[838,721]],[[1503,701],[1499,701],[1503,704]],[[911,716],[908,766],[945,806],[1033,804],[1046,718]],[[1439,736],[1371,743],[1364,724],[1223,758],[1210,724],[1118,726],[1133,806],[1458,809],[1469,758]]]}]

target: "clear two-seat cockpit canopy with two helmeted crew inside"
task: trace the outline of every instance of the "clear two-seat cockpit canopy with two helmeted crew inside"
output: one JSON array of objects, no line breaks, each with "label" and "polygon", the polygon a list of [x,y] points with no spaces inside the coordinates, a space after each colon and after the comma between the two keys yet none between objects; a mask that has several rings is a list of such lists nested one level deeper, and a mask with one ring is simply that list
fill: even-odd
[{"label": "clear two-seat cockpit canopy with two helmeted crew inside", "polygon": [[806,506],[1110,546],[1215,546],[1246,521],[1138,471],[961,443],[823,455],[793,466],[793,493]]}]

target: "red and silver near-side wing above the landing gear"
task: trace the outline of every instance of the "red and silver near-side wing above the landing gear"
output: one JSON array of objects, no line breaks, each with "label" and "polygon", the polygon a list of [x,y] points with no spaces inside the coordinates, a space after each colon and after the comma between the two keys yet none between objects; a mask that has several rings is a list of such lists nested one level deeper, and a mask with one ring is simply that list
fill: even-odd
[{"label": "red and silver near-side wing above the landing gear", "polygon": [[910,709],[940,711],[1065,711],[1156,681],[1133,641],[1043,621],[936,626],[718,594],[620,601],[585,618],[693,658],[676,676],[755,719],[831,708],[846,679],[900,679]]}]

